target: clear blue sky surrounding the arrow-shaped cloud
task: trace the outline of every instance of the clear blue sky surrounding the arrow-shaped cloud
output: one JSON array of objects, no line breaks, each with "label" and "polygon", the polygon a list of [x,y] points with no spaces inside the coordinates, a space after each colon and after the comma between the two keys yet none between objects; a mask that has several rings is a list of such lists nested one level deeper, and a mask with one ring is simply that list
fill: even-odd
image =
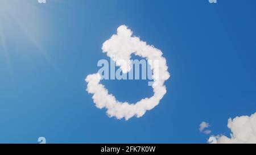
[{"label": "clear blue sky surrounding the arrow-shaped cloud", "polygon": [[[254,0],[6,1],[0,143],[206,143],[201,122],[229,135],[228,118],[256,112]],[[171,73],[159,105],[128,121],[96,108],[84,81],[121,24],[161,49]],[[145,80],[102,83],[123,102],[153,93]]]}]

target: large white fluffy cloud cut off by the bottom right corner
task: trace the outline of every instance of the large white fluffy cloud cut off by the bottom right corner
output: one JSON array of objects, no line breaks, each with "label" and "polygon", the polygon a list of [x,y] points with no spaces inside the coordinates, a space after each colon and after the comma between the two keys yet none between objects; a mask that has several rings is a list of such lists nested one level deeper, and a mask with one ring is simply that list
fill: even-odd
[{"label": "large white fluffy cloud cut off by the bottom right corner", "polygon": [[224,135],[212,136],[212,143],[256,143],[256,112],[251,116],[229,118],[230,138]]}]

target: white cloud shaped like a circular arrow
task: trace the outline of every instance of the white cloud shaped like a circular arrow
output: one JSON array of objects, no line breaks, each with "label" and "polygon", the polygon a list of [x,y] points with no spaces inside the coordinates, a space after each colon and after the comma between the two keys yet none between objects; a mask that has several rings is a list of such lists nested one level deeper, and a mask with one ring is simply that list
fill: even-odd
[{"label": "white cloud shaped like a circular arrow", "polygon": [[[114,95],[109,94],[108,90],[100,83],[101,76],[99,73],[90,74],[85,81],[88,82],[87,91],[93,94],[93,102],[98,108],[106,108],[106,113],[117,119],[130,119],[133,116],[137,118],[143,116],[147,110],[151,110],[157,106],[160,99],[166,94],[166,81],[170,74],[168,73],[166,59],[162,56],[163,53],[154,48],[152,45],[147,45],[146,42],[141,41],[139,37],[132,36],[133,32],[125,25],[117,28],[117,34],[113,35],[109,40],[106,40],[102,45],[102,51],[120,66],[123,73],[127,73],[131,69],[130,58],[131,54],[141,56],[147,60],[159,60],[159,68],[152,69],[152,78],[156,85],[152,85],[154,95],[150,98],[144,98],[137,103],[119,102]],[[124,61],[118,61],[124,60]],[[127,65],[128,64],[128,65]],[[159,77],[155,75],[158,72]]]}]

